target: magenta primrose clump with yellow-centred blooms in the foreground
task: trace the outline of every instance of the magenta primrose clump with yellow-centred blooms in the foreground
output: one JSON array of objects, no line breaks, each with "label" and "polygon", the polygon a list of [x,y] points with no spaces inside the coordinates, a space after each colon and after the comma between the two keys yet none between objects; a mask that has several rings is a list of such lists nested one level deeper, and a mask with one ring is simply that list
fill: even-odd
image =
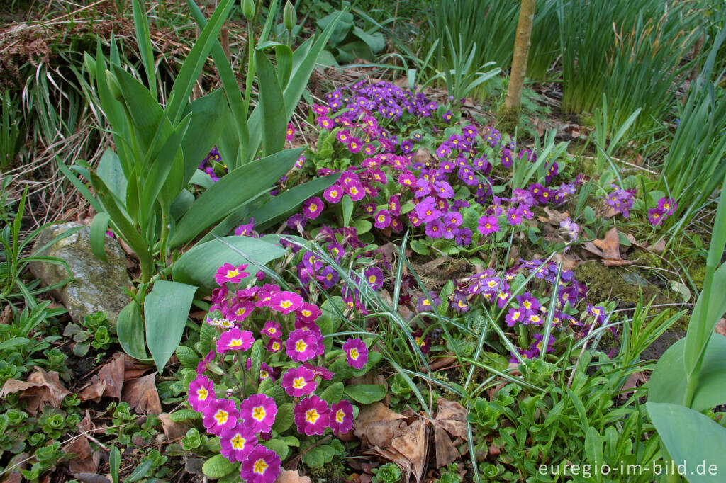
[{"label": "magenta primrose clump with yellow-centred blooms in the foreground", "polygon": [[[321,308],[297,292],[261,284],[247,268],[226,263],[214,276],[219,288],[203,328],[211,331],[213,344],[189,384],[189,405],[219,437],[221,454],[240,463],[242,479],[270,483],[282,460],[264,442],[273,437],[273,428],[276,434],[288,430],[285,421],[288,426],[291,421],[277,421],[281,410],[287,407],[289,414],[292,408],[298,434],[312,437],[349,432],[354,406],[340,397],[320,397],[335,376],[317,324]],[[369,360],[368,346],[359,338],[346,339],[337,352],[353,369]]]}]

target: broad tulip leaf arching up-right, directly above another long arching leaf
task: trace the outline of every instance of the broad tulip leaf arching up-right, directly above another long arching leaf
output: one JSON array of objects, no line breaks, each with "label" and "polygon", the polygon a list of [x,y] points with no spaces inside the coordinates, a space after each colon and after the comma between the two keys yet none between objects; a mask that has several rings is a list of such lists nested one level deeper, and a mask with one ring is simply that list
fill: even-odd
[{"label": "broad tulip leaf arching up-right, directly above another long arching leaf", "polygon": [[237,210],[276,183],[295,165],[302,148],[285,151],[250,162],[232,170],[205,191],[189,208],[171,237],[171,248],[178,247]]}]

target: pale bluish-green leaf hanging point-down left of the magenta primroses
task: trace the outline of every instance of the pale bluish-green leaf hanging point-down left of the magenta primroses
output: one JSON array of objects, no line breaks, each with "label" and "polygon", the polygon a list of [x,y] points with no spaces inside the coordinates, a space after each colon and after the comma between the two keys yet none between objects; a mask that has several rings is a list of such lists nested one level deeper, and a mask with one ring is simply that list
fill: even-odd
[{"label": "pale bluish-green leaf hanging point-down left of the magenta primroses", "polygon": [[159,373],[181,341],[195,292],[196,286],[160,280],[144,300],[146,341]]}]

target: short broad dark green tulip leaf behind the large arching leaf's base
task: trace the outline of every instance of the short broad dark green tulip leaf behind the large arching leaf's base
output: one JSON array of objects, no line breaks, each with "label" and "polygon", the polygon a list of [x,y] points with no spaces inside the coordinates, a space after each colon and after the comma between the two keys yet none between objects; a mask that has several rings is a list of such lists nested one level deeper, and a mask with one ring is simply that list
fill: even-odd
[{"label": "short broad dark green tulip leaf behind the large arching leaf's base", "polygon": [[[189,129],[187,129],[184,139],[181,140],[181,150],[184,152],[185,184],[194,182],[189,180],[221,136],[229,118],[224,113],[228,111],[227,99],[225,99],[222,89],[217,89],[211,94],[196,99],[184,110],[184,116],[189,112],[192,114]],[[231,165],[234,166],[234,162]],[[209,178],[209,175],[204,174]]]}]

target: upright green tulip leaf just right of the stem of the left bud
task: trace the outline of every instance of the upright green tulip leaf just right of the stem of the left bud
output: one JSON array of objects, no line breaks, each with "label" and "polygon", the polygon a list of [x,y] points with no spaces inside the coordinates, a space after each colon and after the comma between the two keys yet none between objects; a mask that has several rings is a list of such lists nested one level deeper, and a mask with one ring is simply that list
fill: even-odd
[{"label": "upright green tulip leaf just right of the stem of the left bud", "polygon": [[287,117],[285,116],[285,99],[282,89],[274,73],[272,62],[262,50],[255,51],[260,91],[259,106],[263,120],[262,152],[264,155],[279,152],[285,146]]}]

